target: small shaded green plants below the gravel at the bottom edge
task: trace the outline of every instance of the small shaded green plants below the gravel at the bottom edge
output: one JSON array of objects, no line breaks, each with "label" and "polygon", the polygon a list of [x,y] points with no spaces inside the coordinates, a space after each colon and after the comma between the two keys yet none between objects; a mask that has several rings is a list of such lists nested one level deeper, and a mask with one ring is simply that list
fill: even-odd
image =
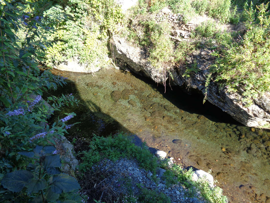
[{"label": "small shaded green plants below the gravel at the bottom edge", "polygon": [[170,203],[171,200],[163,192],[156,190],[148,190],[142,184],[138,185],[140,188],[139,201],[149,203]]}]

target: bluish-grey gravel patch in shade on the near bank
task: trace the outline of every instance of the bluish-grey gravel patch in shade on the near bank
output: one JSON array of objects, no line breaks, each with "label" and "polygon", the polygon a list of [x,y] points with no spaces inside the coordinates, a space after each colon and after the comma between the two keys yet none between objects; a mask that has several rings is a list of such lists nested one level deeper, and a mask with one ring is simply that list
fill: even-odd
[{"label": "bluish-grey gravel patch in shade on the near bank", "polygon": [[[139,167],[139,164],[134,160],[126,158],[119,159],[116,162],[109,159],[104,159],[97,165],[92,167],[94,171],[100,171],[104,173],[106,179],[103,181],[103,185],[110,187],[112,191],[120,194],[129,193],[128,189],[132,189],[135,196],[139,196],[140,189],[137,184],[143,184],[144,188],[149,190],[158,189],[159,192],[163,192],[171,199],[171,203],[206,203],[202,198],[198,197],[186,197],[185,186],[178,184],[171,185],[167,188],[166,181],[162,178],[157,178],[156,184],[149,176],[153,175],[151,171],[146,171]],[[158,171],[165,172],[166,170],[158,168]],[[114,181],[112,181],[114,180]],[[129,180],[130,188],[127,188],[127,180]]]}]

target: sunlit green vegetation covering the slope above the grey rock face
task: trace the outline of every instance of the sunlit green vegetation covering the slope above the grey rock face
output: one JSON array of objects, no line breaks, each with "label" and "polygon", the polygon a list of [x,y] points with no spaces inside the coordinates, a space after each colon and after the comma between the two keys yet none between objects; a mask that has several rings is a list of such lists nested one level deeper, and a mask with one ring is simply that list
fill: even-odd
[{"label": "sunlit green vegetation covering the slope above the grey rock face", "polygon": [[[188,38],[172,37],[175,29],[167,20],[157,21],[160,10],[181,14],[181,23],[205,18],[190,30]],[[199,17],[199,15],[201,15]],[[209,49],[215,61],[209,67],[211,80],[229,92],[240,92],[245,105],[269,91],[269,4],[267,1],[146,1],[130,10],[122,31],[131,44],[145,48],[149,61],[170,73],[184,67],[183,77],[200,71],[185,60],[200,49]],[[184,36],[183,36],[184,37]]]}]

